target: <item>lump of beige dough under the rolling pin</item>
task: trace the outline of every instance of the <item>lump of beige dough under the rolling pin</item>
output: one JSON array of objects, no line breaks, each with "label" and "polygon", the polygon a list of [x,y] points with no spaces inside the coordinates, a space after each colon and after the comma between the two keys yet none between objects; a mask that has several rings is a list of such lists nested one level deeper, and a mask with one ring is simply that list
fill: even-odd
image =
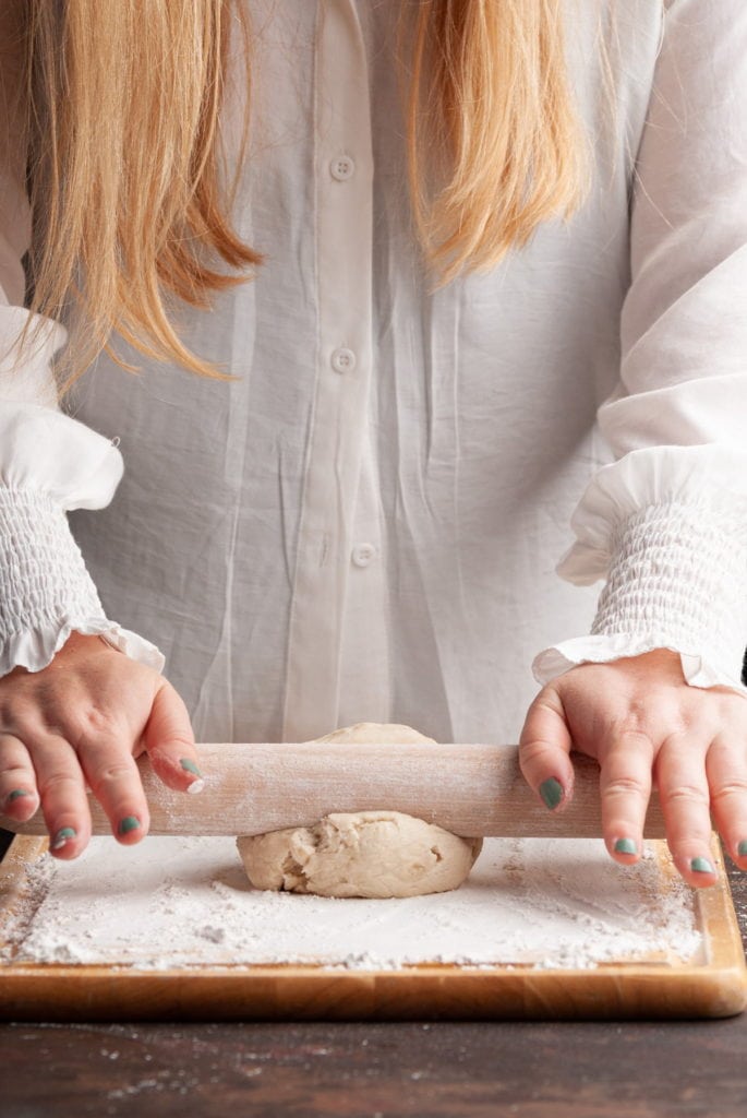
[{"label": "lump of beige dough under the rolling pin", "polygon": [[[430,741],[409,726],[358,722],[324,741]],[[481,839],[461,839],[401,812],[337,812],[313,827],[287,827],[237,839],[256,889],[319,897],[419,897],[457,889]]]}]

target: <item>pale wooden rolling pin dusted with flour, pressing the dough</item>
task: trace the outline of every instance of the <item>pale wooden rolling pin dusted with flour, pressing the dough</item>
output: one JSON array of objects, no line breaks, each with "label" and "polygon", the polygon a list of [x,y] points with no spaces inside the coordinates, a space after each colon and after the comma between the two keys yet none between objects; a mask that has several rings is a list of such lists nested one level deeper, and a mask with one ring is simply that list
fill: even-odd
[{"label": "pale wooden rolling pin dusted with flour, pressing the dough", "polygon": [[[172,792],[146,758],[138,760],[151,834],[256,835],[312,826],[331,812],[386,809],[415,815],[463,836],[593,837],[602,834],[598,766],[574,754],[573,802],[558,812],[539,803],[518,765],[517,746],[344,742],[200,745],[204,789]],[[111,824],[89,797],[94,834]],[[41,812],[18,834],[46,834]],[[647,839],[664,836],[655,793]]]}]

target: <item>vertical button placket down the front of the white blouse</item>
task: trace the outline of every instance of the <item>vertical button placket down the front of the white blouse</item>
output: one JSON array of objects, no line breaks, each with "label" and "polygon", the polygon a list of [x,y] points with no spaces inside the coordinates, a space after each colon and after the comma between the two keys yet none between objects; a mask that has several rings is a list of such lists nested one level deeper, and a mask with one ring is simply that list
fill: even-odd
[{"label": "vertical button placket down the front of the white blouse", "polygon": [[[365,45],[352,0],[319,4],[316,32],[318,350],[288,639],[287,741],[336,726],[372,351],[371,110]],[[365,542],[363,537],[360,543]]]}]

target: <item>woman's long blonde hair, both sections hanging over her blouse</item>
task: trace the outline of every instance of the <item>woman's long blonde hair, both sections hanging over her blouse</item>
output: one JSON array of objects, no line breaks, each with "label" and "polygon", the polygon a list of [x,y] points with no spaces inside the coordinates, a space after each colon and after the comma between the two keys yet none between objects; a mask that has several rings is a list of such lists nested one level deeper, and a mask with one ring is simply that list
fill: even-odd
[{"label": "woman's long blonde hair, both sections hanging over her blouse", "polygon": [[[495,266],[540,222],[569,217],[584,196],[563,7],[402,0],[411,208],[435,285]],[[262,263],[230,216],[248,140],[246,0],[23,0],[23,8],[27,302],[51,319],[75,312],[57,362],[61,390],[102,350],[136,371],[111,349],[112,331],[156,361],[223,378],[180,340],[174,312],[208,307],[213,292],[247,282]],[[231,176],[220,121],[233,21],[247,112]],[[216,268],[220,259],[232,274]]]}]

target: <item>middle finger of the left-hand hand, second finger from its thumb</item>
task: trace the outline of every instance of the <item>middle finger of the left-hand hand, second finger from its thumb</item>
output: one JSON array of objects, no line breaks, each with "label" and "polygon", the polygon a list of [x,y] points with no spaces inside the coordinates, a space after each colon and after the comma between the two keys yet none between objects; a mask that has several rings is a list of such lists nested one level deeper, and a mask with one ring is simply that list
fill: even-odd
[{"label": "middle finger of the left-hand hand, second finger from its thumb", "polygon": [[49,831],[49,851],[55,858],[77,858],[90,837],[90,812],[75,750],[69,741],[44,730],[29,732],[25,745]]}]

